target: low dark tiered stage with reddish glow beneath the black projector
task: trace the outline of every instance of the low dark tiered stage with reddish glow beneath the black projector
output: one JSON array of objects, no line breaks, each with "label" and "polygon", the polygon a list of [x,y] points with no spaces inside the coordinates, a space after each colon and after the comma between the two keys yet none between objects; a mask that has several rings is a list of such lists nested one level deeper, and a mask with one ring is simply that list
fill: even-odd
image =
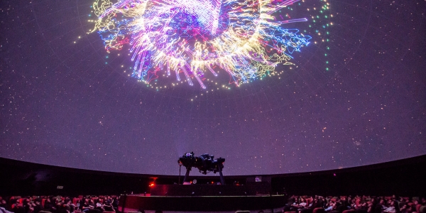
[{"label": "low dark tiered stage with reddish glow beneath the black projector", "polygon": [[121,196],[119,211],[261,210],[277,209],[286,202],[284,195],[258,194],[253,185],[155,185],[148,195]]}]

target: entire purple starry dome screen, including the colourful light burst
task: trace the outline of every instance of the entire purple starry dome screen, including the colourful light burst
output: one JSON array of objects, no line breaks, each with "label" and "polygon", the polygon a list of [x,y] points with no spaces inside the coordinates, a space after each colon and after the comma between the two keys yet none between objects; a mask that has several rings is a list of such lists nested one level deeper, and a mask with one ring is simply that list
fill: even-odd
[{"label": "entire purple starry dome screen, including the colourful light burst", "polygon": [[1,1],[0,157],[257,175],[425,154],[425,2],[191,2]]}]

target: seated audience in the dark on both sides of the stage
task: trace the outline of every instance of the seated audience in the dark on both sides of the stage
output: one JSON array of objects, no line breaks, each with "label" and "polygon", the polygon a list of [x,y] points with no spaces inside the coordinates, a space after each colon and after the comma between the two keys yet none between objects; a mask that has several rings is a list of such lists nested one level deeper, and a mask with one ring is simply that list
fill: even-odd
[{"label": "seated audience in the dark on both sides of the stage", "polygon": [[[0,213],[113,213],[119,197],[0,197]],[[346,211],[346,212],[345,212]],[[291,196],[283,212],[292,213],[426,213],[425,197]]]}]

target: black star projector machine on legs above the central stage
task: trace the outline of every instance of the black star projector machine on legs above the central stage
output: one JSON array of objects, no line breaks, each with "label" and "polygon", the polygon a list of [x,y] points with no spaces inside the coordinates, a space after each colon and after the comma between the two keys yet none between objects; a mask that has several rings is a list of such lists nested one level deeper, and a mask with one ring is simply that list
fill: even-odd
[{"label": "black star projector machine on legs above the central stage", "polygon": [[187,172],[185,174],[185,178],[183,182],[186,182],[188,176],[190,175],[190,170],[192,167],[200,170],[200,173],[206,175],[207,171],[217,173],[220,175],[220,182],[222,185],[225,184],[224,177],[222,175],[222,169],[224,168],[225,158],[217,158],[214,160],[214,155],[203,154],[200,157],[196,157],[193,152],[185,153],[182,157],[179,158],[179,165],[185,166]]}]

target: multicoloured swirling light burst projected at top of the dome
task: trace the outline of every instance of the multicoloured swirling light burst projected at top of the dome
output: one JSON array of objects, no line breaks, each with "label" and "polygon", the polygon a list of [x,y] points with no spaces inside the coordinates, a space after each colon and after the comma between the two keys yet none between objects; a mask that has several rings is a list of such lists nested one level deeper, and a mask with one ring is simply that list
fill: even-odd
[{"label": "multicoloured swirling light burst projected at top of the dome", "polygon": [[[130,45],[133,77],[150,84],[163,72],[206,89],[204,75],[226,71],[236,85],[292,65],[311,37],[273,13],[297,0],[97,0],[93,31],[107,52]],[[209,72],[209,73],[208,73]]]}]

